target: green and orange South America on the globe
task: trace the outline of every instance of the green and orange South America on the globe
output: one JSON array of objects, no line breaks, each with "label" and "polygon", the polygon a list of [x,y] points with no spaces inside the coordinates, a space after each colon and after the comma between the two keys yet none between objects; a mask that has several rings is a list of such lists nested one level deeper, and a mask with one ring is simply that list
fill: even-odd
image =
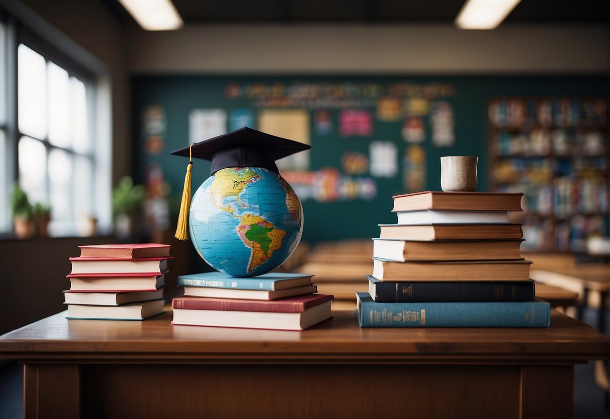
[{"label": "green and orange South America on the globe", "polygon": [[237,234],[252,249],[248,263],[248,273],[251,273],[282,247],[286,231],[274,227],[273,223],[261,216],[243,214],[237,226]]}]

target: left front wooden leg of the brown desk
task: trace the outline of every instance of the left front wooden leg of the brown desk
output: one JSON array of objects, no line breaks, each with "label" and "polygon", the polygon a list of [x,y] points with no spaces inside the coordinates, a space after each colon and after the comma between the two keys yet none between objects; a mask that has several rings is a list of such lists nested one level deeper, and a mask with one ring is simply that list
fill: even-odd
[{"label": "left front wooden leg of the brown desk", "polygon": [[26,364],[23,373],[26,419],[82,417],[81,366]]}]

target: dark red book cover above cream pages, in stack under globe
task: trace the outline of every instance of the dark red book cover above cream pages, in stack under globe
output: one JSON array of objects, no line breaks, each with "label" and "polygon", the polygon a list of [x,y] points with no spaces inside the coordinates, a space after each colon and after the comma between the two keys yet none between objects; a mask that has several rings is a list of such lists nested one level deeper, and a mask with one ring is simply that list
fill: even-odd
[{"label": "dark red book cover above cream pages, in stack under globe", "polygon": [[178,297],[171,302],[172,308],[185,310],[228,310],[232,312],[300,313],[315,307],[334,296],[307,294],[274,301],[238,300],[230,298]]}]

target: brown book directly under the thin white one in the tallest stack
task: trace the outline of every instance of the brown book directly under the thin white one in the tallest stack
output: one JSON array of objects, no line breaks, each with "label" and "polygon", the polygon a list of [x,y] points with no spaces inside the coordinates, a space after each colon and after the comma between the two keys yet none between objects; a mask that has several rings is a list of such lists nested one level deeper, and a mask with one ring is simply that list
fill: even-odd
[{"label": "brown book directly under the thin white one in the tallest stack", "polygon": [[404,240],[520,239],[521,224],[378,224],[379,238]]}]

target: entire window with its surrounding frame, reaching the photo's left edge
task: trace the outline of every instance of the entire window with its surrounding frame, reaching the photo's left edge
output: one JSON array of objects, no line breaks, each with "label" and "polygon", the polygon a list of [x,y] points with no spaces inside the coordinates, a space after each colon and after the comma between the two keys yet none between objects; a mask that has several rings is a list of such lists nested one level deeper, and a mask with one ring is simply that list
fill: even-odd
[{"label": "entire window with its surrounding frame, reaching the photo's left edge", "polygon": [[0,10],[0,235],[13,231],[15,181],[30,203],[51,208],[51,236],[91,234],[91,219],[107,233],[107,68],[56,29],[35,33],[21,18]]}]

